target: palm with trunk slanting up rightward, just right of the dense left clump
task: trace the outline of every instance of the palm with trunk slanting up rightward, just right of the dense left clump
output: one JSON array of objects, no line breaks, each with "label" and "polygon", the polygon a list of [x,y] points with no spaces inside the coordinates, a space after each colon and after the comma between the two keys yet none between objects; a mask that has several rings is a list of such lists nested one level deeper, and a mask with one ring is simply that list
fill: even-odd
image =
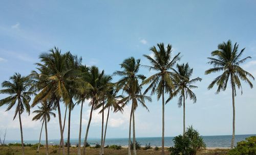
[{"label": "palm with trunk slanting up rightward, just right of the dense left clump", "polygon": [[88,89],[88,95],[90,96],[90,105],[91,105],[91,112],[90,112],[90,117],[87,125],[87,130],[86,130],[86,136],[84,138],[84,143],[83,143],[83,155],[86,154],[86,143],[87,143],[87,138],[88,138],[88,133],[89,133],[89,128],[90,128],[90,123],[92,120],[92,113],[95,107],[98,104],[99,97],[101,94],[101,91],[103,89],[101,80],[104,77],[104,70],[99,72],[99,69],[96,66],[92,66],[89,68],[89,71],[87,74],[84,75],[84,81],[88,82],[91,87]]}]

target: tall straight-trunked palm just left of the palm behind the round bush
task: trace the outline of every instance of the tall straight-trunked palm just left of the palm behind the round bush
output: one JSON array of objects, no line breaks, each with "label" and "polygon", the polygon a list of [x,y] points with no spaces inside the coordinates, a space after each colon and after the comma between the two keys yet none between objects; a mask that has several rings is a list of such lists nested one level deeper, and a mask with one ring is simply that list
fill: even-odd
[{"label": "tall straight-trunked palm just left of the palm behind the round bush", "polygon": [[151,51],[154,56],[143,55],[147,58],[152,66],[146,66],[148,69],[158,71],[156,74],[148,77],[142,84],[150,84],[145,90],[144,94],[150,89],[151,95],[157,93],[157,99],[162,96],[162,154],[164,154],[164,93],[174,90],[174,82],[172,80],[172,74],[170,70],[173,70],[173,66],[180,60],[180,53],[172,59],[172,45],[168,44],[165,49],[164,44],[157,44],[159,50],[155,46],[151,47]]}]

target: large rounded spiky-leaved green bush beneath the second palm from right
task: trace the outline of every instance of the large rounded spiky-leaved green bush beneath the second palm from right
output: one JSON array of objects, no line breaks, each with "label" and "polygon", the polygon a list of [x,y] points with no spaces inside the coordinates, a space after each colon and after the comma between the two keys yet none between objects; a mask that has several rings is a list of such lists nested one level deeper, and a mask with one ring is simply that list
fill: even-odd
[{"label": "large rounded spiky-leaved green bush beneath the second palm from right", "polygon": [[168,148],[171,155],[195,155],[200,148],[206,147],[203,138],[192,126],[187,128],[184,136],[176,136],[173,141],[174,147]]}]

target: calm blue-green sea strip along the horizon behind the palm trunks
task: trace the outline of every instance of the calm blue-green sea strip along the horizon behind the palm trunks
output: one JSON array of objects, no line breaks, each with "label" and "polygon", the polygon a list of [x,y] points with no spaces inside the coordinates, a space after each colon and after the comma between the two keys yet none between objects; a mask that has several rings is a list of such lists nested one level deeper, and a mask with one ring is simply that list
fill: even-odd
[{"label": "calm blue-green sea strip along the horizon behind the palm trunks", "polygon": [[[250,136],[256,136],[256,135],[236,135],[235,142],[239,142],[242,140],[245,140],[245,138]],[[231,143],[231,135],[227,136],[202,136],[204,139],[204,142],[206,143],[207,147],[230,147]],[[173,146],[173,138],[174,137],[165,137],[165,146]],[[141,145],[145,145],[148,143],[151,143],[151,146],[161,146],[161,137],[138,137],[136,138],[138,142],[141,143]],[[67,141],[67,140],[66,140]],[[38,143],[37,140],[25,140],[25,143],[31,143],[35,144]],[[100,144],[100,139],[89,139],[88,142],[91,145],[95,145],[96,143]],[[6,143],[20,143],[20,141],[9,141],[6,140]],[[42,144],[45,144],[45,140],[41,141]],[[58,145],[59,140],[48,140],[49,144],[52,145]],[[78,139],[71,139],[70,141],[71,145],[76,145],[78,143]],[[83,140],[82,140],[83,143]],[[105,145],[122,145],[127,146],[128,145],[128,138],[108,138],[105,140]]]}]

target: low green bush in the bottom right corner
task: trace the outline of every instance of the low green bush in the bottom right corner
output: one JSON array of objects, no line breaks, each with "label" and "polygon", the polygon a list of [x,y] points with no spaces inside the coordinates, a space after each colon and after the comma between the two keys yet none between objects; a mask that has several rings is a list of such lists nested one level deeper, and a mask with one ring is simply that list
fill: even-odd
[{"label": "low green bush in the bottom right corner", "polygon": [[229,155],[253,155],[256,154],[256,136],[251,136],[237,143],[237,146],[229,150]]}]

